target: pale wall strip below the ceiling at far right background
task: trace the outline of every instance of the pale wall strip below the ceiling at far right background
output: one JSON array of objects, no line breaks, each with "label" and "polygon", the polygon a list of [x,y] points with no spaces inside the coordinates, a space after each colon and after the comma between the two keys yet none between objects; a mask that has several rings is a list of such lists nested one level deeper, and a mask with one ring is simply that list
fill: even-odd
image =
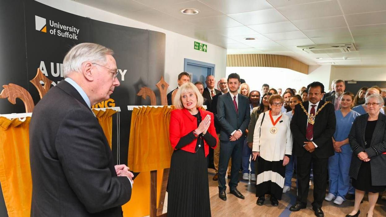
[{"label": "pale wall strip below the ceiling at far right background", "polygon": [[330,81],[386,81],[386,67],[339,67],[332,66]]}]

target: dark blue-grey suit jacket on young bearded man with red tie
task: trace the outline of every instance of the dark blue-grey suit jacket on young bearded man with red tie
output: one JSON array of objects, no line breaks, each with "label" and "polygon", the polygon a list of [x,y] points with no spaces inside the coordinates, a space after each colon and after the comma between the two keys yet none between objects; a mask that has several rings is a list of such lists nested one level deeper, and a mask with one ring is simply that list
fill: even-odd
[{"label": "dark blue-grey suit jacket on young bearded man with red tie", "polygon": [[245,137],[245,129],[251,120],[251,107],[247,97],[238,94],[238,100],[239,112],[236,112],[229,92],[218,96],[217,117],[221,126],[220,140],[229,141],[230,134],[238,129],[243,132],[243,137]]}]

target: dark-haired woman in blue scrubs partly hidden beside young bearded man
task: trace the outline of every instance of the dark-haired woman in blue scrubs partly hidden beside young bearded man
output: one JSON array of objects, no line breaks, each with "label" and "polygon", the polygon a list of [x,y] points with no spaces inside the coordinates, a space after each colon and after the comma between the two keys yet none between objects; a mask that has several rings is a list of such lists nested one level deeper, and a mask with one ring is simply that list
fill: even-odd
[{"label": "dark-haired woman in blue scrubs partly hidden beside young bearded man", "polygon": [[[260,103],[260,92],[257,90],[252,90],[251,93],[249,93],[249,103],[251,106],[251,114],[253,111],[253,108],[256,108],[259,106]],[[250,131],[248,129],[246,130],[247,135]],[[253,135],[253,131],[251,132]],[[252,156],[252,149],[248,147],[247,139],[244,140],[244,145],[242,147],[242,159],[241,159],[241,167],[242,167],[242,179],[243,180],[249,180],[249,174],[251,174],[251,181],[256,181],[256,175],[255,175],[255,161],[249,162],[249,158]],[[249,166],[251,166],[251,171],[249,171]]]}]

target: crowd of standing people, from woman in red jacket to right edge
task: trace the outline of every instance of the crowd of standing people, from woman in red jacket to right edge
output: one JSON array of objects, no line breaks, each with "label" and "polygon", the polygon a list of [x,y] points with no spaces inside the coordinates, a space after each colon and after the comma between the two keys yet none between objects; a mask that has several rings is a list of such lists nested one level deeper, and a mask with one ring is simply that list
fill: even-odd
[{"label": "crowd of standing people, from woman in red jacket to right edge", "polygon": [[215,169],[212,179],[218,181],[222,200],[227,199],[226,174],[230,193],[244,199],[237,190],[239,172],[243,180],[256,182],[257,205],[264,205],[265,195],[270,195],[271,204],[278,206],[283,193],[295,190],[293,212],[306,207],[314,185],[312,207],[318,217],[324,216],[323,200],[336,205],[354,200],[347,217],[360,214],[366,192],[367,216],[373,215],[379,194],[386,200],[385,90],[371,86],[351,93],[343,80],[333,80],[329,92],[318,81],[284,92],[268,84],[251,90],[236,73],[221,78],[218,90],[215,84],[209,75],[206,86],[199,81],[193,85],[183,72],[178,87],[168,94],[169,105],[186,110],[171,116],[175,151],[168,207],[178,208],[169,215],[211,215],[207,177],[202,177],[206,166]]}]

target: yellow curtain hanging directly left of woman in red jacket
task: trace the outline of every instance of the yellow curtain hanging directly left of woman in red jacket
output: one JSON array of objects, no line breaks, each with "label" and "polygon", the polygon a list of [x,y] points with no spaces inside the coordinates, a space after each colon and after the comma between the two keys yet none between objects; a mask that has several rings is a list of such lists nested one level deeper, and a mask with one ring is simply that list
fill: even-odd
[{"label": "yellow curtain hanging directly left of woman in red jacket", "polygon": [[127,166],[134,172],[170,167],[173,148],[169,141],[173,107],[134,108],[131,116]]}]

